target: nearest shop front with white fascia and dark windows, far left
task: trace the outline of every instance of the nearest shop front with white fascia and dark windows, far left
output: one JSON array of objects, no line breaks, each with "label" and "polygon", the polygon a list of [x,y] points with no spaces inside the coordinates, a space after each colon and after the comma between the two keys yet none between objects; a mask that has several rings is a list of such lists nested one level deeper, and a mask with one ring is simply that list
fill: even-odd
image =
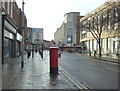
[{"label": "nearest shop front with white fascia and dark windows, far left", "polygon": [[2,15],[2,60],[16,57],[17,26],[6,15]]}]

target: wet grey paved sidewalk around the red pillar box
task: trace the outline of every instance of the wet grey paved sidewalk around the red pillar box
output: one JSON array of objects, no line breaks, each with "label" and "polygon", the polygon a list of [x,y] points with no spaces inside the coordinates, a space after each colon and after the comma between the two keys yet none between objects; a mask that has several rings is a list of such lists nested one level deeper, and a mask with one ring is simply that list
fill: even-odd
[{"label": "wet grey paved sidewalk around the red pillar box", "polygon": [[44,58],[39,53],[27,59],[24,68],[20,67],[21,58],[9,59],[3,65],[3,89],[77,89],[60,71],[59,75],[49,74],[49,52]]}]

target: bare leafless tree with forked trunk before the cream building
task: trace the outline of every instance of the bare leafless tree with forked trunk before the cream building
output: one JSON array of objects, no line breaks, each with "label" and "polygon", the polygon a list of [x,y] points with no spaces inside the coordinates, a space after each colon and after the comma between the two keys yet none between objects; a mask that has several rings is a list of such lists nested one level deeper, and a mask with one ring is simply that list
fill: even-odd
[{"label": "bare leafless tree with forked trunk before the cream building", "polygon": [[[107,14],[108,12],[106,12]],[[102,11],[100,11],[98,14],[94,14],[93,17],[87,19],[87,23],[83,25],[84,28],[87,29],[88,32],[90,32],[94,39],[96,39],[98,44],[98,50],[99,50],[99,57],[101,57],[101,35],[102,32],[105,30],[106,27],[108,27],[108,15],[104,14]]]}]

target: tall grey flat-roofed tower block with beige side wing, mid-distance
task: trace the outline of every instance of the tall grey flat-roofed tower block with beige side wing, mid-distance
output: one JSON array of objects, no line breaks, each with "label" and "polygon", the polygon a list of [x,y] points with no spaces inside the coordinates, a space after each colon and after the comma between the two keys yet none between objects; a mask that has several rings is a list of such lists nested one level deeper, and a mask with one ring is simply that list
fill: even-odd
[{"label": "tall grey flat-roofed tower block with beige side wing, mid-distance", "polygon": [[80,40],[80,12],[70,12],[64,15],[64,21],[54,33],[54,40],[64,47],[75,47]]}]

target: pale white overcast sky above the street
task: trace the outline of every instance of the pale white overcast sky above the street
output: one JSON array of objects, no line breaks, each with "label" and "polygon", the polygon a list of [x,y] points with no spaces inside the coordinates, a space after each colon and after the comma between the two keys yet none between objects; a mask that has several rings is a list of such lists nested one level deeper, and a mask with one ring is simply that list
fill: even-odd
[{"label": "pale white overcast sky above the street", "polygon": [[[16,0],[22,7],[22,0]],[[54,33],[68,12],[86,15],[107,0],[24,0],[28,27],[44,28],[44,39],[54,39]]]}]

